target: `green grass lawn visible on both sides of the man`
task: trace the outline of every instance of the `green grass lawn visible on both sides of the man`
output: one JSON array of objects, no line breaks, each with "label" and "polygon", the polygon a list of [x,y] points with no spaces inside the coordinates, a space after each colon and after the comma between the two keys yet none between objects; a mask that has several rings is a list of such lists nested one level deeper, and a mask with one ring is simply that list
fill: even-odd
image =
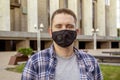
[{"label": "green grass lawn visible on both sides of the man", "polygon": [[[25,64],[18,65],[15,68],[7,68],[7,70],[21,73]],[[104,80],[120,80],[120,66],[111,66],[100,64]]]}]

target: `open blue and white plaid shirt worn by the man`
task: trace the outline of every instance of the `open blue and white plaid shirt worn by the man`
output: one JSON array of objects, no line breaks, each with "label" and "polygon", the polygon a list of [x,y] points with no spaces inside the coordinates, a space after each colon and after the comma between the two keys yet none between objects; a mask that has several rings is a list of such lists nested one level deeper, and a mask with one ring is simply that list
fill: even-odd
[{"label": "open blue and white plaid shirt worn by the man", "polygon": [[[96,59],[74,48],[80,70],[80,80],[102,80]],[[53,45],[33,55],[24,68],[21,80],[55,80],[57,59]]]}]

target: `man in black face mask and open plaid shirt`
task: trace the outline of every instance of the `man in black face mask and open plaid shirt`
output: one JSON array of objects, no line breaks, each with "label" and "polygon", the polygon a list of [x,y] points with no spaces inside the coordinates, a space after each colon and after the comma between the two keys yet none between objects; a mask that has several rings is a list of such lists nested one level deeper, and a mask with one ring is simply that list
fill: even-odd
[{"label": "man in black face mask and open plaid shirt", "polygon": [[74,47],[76,22],[69,9],[53,13],[49,29],[53,44],[28,60],[22,80],[102,80],[96,59]]}]

